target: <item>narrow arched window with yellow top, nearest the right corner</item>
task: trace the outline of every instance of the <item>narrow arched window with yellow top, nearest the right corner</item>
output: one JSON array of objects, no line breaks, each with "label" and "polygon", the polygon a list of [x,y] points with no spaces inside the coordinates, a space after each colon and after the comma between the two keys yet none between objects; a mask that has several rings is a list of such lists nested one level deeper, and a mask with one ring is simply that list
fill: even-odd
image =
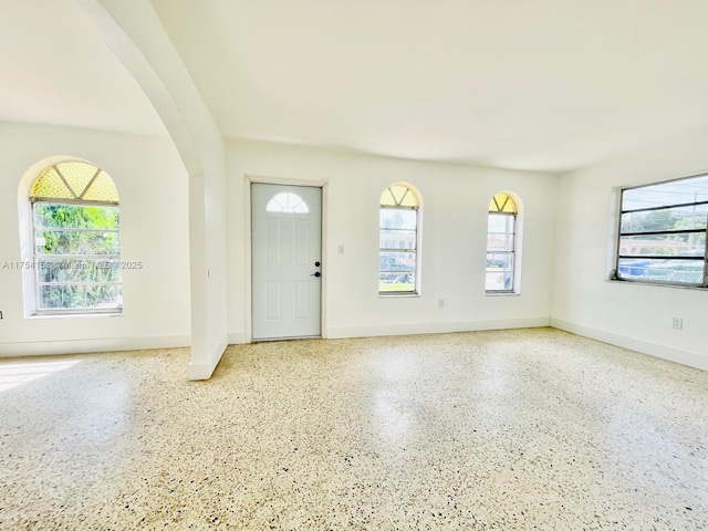
[{"label": "narrow arched window with yellow top, nearest the right corner", "polygon": [[517,291],[517,205],[507,194],[489,201],[487,229],[487,293]]}]

